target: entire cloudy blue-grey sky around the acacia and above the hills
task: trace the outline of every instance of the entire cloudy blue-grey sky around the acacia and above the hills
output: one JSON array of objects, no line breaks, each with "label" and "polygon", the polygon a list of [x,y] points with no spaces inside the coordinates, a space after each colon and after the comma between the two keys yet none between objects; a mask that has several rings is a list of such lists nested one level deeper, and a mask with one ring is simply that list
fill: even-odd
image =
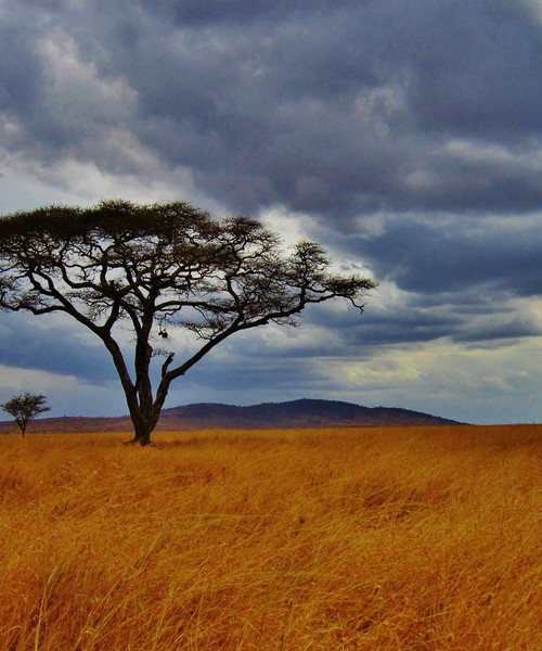
[{"label": "entire cloudy blue-grey sky around the acacia and above the hills", "polygon": [[[541,422],[541,0],[0,0],[0,214],[181,199],[379,281],[361,317],[230,340],[168,406]],[[126,412],[90,334],[0,314],[23,391]]]}]

